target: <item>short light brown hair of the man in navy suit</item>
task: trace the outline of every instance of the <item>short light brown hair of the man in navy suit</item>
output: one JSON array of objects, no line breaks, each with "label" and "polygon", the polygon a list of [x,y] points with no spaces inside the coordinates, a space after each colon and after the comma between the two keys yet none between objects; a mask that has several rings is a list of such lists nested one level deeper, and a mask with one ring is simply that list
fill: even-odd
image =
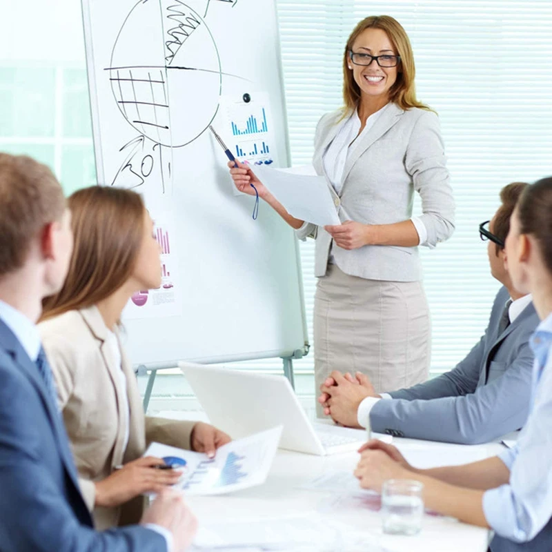
[{"label": "short light brown hair of the man in navy suit", "polygon": [[63,190],[46,165],[0,153],[0,277],[23,266],[32,240],[65,208]]}]

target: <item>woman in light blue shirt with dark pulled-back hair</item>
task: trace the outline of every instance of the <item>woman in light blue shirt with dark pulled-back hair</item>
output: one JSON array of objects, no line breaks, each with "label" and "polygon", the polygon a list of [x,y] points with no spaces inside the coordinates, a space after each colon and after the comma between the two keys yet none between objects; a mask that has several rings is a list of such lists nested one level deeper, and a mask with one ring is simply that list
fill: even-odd
[{"label": "woman in light blue shirt with dark pulled-back hair", "polygon": [[528,186],[511,218],[506,262],[517,290],[533,294],[542,320],[535,354],[531,413],[517,444],[504,453],[429,470],[410,466],[395,447],[364,445],[355,471],[366,489],[388,479],[424,484],[428,508],[495,531],[492,552],[552,550],[552,177]]}]

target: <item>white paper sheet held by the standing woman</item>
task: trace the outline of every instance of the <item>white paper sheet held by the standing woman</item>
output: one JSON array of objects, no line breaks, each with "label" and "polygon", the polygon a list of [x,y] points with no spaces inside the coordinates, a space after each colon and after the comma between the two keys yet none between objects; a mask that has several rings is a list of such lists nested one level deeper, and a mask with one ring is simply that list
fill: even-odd
[{"label": "white paper sheet held by the standing woman", "polygon": [[257,178],[293,217],[319,226],[341,224],[325,177],[252,166]]}]

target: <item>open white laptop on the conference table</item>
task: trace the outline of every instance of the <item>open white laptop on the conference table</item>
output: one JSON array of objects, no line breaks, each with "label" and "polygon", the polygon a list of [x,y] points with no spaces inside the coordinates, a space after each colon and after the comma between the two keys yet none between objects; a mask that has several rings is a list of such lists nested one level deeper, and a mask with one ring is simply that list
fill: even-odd
[{"label": "open white laptop on the conference table", "polygon": [[311,423],[287,378],[181,362],[209,421],[233,439],[284,425],[280,448],[326,455],[356,451],[366,431]]}]

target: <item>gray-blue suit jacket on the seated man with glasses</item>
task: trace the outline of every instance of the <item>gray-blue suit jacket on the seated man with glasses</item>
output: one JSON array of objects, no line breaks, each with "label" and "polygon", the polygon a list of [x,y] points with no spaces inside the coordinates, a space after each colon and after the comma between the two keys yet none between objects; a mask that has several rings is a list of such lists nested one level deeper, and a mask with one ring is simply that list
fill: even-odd
[{"label": "gray-blue suit jacket on the seated man with glasses", "polygon": [[391,393],[372,408],[373,431],[398,437],[462,444],[489,442],[521,428],[529,415],[533,353],[529,337],[539,324],[527,305],[498,335],[509,299],[497,293],[480,342],[450,372]]}]

